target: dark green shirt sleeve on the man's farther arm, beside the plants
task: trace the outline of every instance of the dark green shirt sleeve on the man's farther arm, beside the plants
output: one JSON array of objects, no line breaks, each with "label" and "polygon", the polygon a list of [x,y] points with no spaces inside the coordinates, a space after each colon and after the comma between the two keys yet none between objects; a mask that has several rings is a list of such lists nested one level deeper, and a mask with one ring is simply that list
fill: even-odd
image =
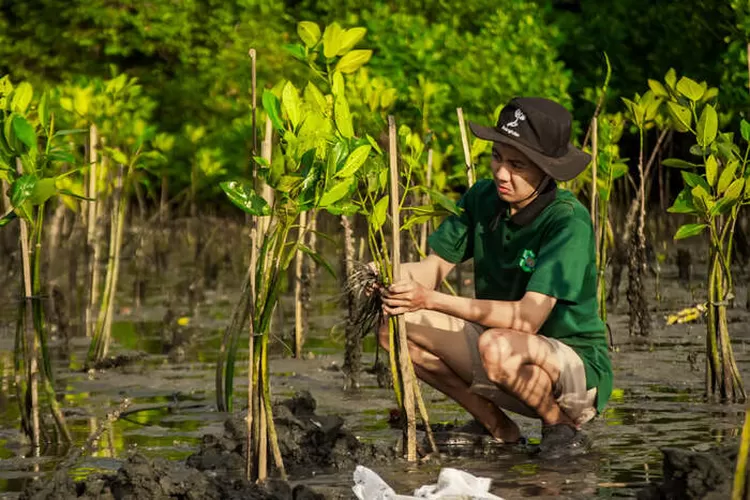
[{"label": "dark green shirt sleeve on the man's farther arm, beside the plants", "polygon": [[473,191],[470,189],[458,200],[457,205],[463,209],[461,215],[449,215],[427,239],[436,254],[453,264],[470,259],[474,253],[474,226],[470,210]]}]

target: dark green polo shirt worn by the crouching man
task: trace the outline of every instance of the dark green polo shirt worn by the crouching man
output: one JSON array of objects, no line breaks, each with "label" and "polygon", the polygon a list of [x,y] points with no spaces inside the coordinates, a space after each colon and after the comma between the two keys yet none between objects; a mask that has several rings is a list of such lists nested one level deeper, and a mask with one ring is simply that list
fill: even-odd
[{"label": "dark green polo shirt worn by the crouching man", "polygon": [[491,180],[478,181],[430,235],[432,250],[459,263],[474,259],[478,299],[516,301],[526,292],[557,298],[539,333],[569,345],[583,360],[586,387],[601,412],[612,393],[606,327],[596,297],[595,237],[588,210],[554,183],[509,217]]}]

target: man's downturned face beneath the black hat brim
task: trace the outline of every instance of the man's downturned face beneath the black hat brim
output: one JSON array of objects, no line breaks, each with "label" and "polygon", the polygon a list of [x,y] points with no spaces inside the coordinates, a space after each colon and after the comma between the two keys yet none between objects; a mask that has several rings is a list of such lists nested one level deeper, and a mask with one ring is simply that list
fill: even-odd
[{"label": "man's downturned face beneath the black hat brim", "polygon": [[525,201],[544,178],[544,172],[512,146],[494,143],[492,177],[497,195],[513,204]]}]

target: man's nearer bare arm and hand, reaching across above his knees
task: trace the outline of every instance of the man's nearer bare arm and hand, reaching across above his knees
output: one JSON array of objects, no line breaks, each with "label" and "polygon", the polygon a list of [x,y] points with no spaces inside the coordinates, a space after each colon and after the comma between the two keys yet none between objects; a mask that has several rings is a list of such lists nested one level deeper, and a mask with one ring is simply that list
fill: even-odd
[{"label": "man's nearer bare arm and hand, reaching across above his knees", "polygon": [[383,303],[385,312],[392,315],[430,309],[487,328],[509,328],[536,334],[549,317],[557,299],[537,292],[526,292],[517,301],[470,299],[440,293],[404,280],[383,292]]}]

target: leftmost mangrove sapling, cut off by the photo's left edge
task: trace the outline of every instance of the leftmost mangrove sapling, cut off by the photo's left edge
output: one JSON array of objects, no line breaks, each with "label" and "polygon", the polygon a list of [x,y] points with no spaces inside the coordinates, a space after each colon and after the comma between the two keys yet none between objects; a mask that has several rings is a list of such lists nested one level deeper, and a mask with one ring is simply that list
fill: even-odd
[{"label": "leftmost mangrove sapling, cut off by the photo's left edge", "polygon": [[[45,92],[38,101],[33,98],[29,83],[14,86],[7,77],[0,80],[0,178],[10,185],[10,210],[0,214],[0,226],[19,220],[23,267],[23,300],[14,353],[16,399],[21,409],[21,427],[31,439],[36,455],[43,436],[48,442],[71,441],[55,397],[44,317],[46,280],[41,275],[41,262],[45,203],[60,194],[58,180],[68,175],[59,173],[60,166],[73,164],[74,158],[59,144],[70,131],[55,130],[49,94]],[[42,404],[52,416],[51,432],[40,414]]]}]

